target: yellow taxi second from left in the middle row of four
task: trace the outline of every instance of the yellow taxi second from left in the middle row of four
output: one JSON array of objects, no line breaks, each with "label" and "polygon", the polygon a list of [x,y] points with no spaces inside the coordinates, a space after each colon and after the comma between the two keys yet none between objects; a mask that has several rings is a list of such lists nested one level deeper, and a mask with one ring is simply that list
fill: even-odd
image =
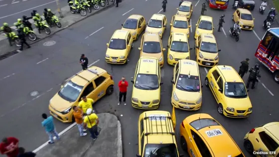
[{"label": "yellow taxi second from left in the middle row of four", "polygon": [[144,33],[141,37],[140,46],[140,57],[155,57],[158,59],[160,67],[163,67],[163,51],[165,51],[165,48],[163,48],[162,40],[158,34]]}]

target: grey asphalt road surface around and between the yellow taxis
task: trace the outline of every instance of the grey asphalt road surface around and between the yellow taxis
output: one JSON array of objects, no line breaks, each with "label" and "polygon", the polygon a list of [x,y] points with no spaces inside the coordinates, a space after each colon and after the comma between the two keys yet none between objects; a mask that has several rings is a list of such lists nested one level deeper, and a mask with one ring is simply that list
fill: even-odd
[{"label": "grey asphalt road surface around and between the yellow taxis", "polygon": [[[176,13],[179,1],[169,1],[164,13],[171,20]],[[203,1],[192,1],[194,7],[191,18],[192,33],[190,33],[189,45],[194,45],[195,24],[200,16],[201,3]],[[256,2],[257,3],[257,2]],[[229,4],[232,5],[232,2]],[[250,65],[257,63],[254,57],[255,50],[262,38],[265,30],[262,22],[265,15],[258,12],[260,2],[252,13],[255,20],[255,31],[242,31],[239,42],[229,36],[229,28],[234,24],[231,15],[232,8],[225,11],[208,8],[206,15],[214,19],[215,31],[219,49],[220,65],[231,65],[239,68],[240,62],[249,57]],[[268,8],[269,9],[269,8]],[[267,10],[268,10],[267,9]],[[94,65],[106,69],[111,73],[116,83],[124,75],[127,80],[135,74],[136,63],[139,59],[139,42],[136,41],[134,49],[129,56],[127,65],[110,65],[105,62],[106,43],[110,40],[116,29],[121,28],[121,24],[131,14],[141,14],[148,21],[153,13],[161,10],[161,0],[125,0],[119,7],[113,7],[86,20],[74,24],[73,26],[56,33],[32,46],[31,49],[24,50],[10,58],[0,61],[0,124],[2,124],[1,136],[15,136],[19,138],[20,145],[27,150],[34,150],[48,140],[41,127],[41,114],[48,113],[48,102],[59,90],[60,83],[81,70],[79,57],[85,53],[89,62],[96,62]],[[129,11],[129,12],[128,12]],[[128,13],[127,13],[128,12]],[[219,16],[225,14],[224,32],[217,32]],[[102,28],[103,27],[103,28]],[[273,27],[278,27],[274,24]],[[102,28],[102,29],[101,29]],[[99,30],[99,31],[97,31]],[[97,31],[97,32],[95,32]],[[93,35],[89,36],[95,32]],[[257,34],[257,35],[256,35]],[[163,45],[166,47],[169,35],[169,23],[163,35]],[[89,37],[87,37],[89,36]],[[86,38],[86,39],[85,39]],[[55,41],[52,46],[43,46],[47,41]],[[165,61],[166,61],[166,51]],[[194,51],[191,51],[191,59],[194,59]],[[42,61],[42,62],[41,62]],[[161,69],[161,77],[164,82],[161,88],[161,106],[159,110],[172,111],[170,105],[171,75],[173,67],[166,64]],[[208,68],[200,67],[201,78],[204,80]],[[276,84],[271,73],[261,67],[261,82],[257,89],[249,92],[253,104],[253,114],[247,119],[231,119],[222,117],[217,112],[217,104],[212,93],[205,86],[203,87],[203,105],[200,111],[187,112],[176,110],[177,127],[187,116],[196,113],[207,113],[221,123],[230,133],[234,140],[241,147],[245,155],[249,157],[243,148],[243,138],[252,128],[269,122],[279,121],[278,107],[276,106],[279,96],[278,84]],[[9,77],[7,77],[9,76]],[[247,79],[247,76],[244,76]],[[119,116],[123,127],[123,144],[125,157],[134,157],[138,153],[138,118],[143,110],[134,109],[131,105],[131,84],[128,89],[127,106],[117,105],[118,88],[110,97],[105,97],[95,104],[98,112],[111,112]],[[271,93],[269,91],[271,91]],[[33,91],[38,91],[38,95],[30,96]],[[122,115],[122,116],[121,116]],[[69,124],[62,124],[55,121],[58,132],[61,132]],[[178,128],[176,129],[179,130]],[[179,133],[177,132],[177,135]],[[178,138],[179,136],[177,136]],[[178,141],[179,143],[179,141]],[[183,151],[180,148],[180,154]]]}]

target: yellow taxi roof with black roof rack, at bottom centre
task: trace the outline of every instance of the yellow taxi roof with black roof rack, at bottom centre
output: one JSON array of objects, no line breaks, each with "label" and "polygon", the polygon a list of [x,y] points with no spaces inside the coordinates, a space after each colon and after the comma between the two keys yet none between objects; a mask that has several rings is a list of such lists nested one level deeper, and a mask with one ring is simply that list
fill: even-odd
[{"label": "yellow taxi roof with black roof rack, at bottom centre", "polygon": [[[156,117],[165,117],[165,120],[156,120]],[[175,133],[171,121],[171,114],[167,111],[146,111],[140,114],[143,118],[144,133],[148,144],[176,143]],[[151,120],[153,117],[155,120]]]}]

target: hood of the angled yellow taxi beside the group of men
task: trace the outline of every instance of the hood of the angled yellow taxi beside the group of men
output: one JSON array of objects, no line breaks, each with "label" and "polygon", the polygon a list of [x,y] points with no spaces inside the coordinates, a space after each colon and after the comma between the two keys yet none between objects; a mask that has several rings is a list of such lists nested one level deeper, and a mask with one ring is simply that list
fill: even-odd
[{"label": "hood of the angled yellow taxi beside the group of men", "polygon": [[50,99],[50,106],[55,110],[62,112],[73,106],[73,102],[69,102],[61,98],[57,93]]}]

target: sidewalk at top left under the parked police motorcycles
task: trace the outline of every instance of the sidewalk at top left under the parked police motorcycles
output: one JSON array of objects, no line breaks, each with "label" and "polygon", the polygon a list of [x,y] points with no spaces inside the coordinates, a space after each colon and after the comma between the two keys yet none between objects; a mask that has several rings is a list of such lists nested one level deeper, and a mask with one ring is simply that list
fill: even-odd
[{"label": "sidewalk at top left under the parked police motorcycles", "polygon": [[[109,5],[106,5],[105,7],[100,6],[99,10],[95,10],[92,7],[92,12],[90,13],[90,12],[87,11],[86,16],[82,16],[80,13],[72,14],[71,11],[70,11],[70,7],[68,5],[64,6],[64,7],[61,8],[61,12],[62,12],[64,17],[62,19],[60,18],[60,22],[62,24],[62,27],[61,28],[58,28],[57,26],[50,27],[51,34],[49,34],[49,35],[47,35],[44,31],[41,31],[41,34],[39,34],[37,28],[35,28],[35,26],[33,24],[33,19],[30,19],[29,21],[32,23],[33,31],[37,35],[37,39],[35,41],[30,41],[26,37],[26,41],[29,44],[36,43],[36,42],[38,42],[38,41],[56,33],[58,31],[61,31],[65,28],[67,28],[68,26],[71,26],[72,24],[74,24],[76,22],[79,22],[79,21],[81,21],[81,20],[83,20],[83,19],[85,19],[89,16],[92,16],[92,15],[94,15],[94,14],[100,12],[100,11],[103,11],[107,8],[110,8],[113,5],[114,4],[111,1],[109,1]],[[59,13],[57,11],[54,12],[54,13],[57,15],[57,17],[59,17]],[[42,18],[43,18],[43,16],[42,16]],[[16,22],[16,21],[14,21],[14,22]],[[13,23],[9,23],[9,25],[12,29],[16,28],[15,26],[13,26]],[[16,32],[16,30],[14,30],[14,32]],[[2,33],[2,32],[0,33],[0,60],[20,52],[18,49],[19,49],[19,47],[15,46],[14,43],[13,43],[13,46],[9,46],[8,40],[4,36],[4,33]]]}]

